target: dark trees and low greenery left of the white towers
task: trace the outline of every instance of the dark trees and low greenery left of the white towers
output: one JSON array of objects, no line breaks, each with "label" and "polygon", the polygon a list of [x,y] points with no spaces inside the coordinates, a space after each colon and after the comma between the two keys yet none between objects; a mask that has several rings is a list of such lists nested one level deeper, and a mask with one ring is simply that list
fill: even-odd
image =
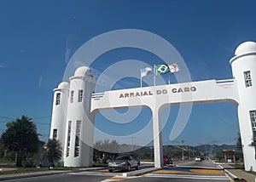
[{"label": "dark trees and low greenery left of the white towers", "polygon": [[45,144],[38,139],[39,135],[30,117],[23,115],[7,122],[0,138],[0,166],[15,167],[18,173],[26,171],[25,168],[36,168],[42,161],[48,167],[58,164],[62,155],[60,142],[49,139]]}]

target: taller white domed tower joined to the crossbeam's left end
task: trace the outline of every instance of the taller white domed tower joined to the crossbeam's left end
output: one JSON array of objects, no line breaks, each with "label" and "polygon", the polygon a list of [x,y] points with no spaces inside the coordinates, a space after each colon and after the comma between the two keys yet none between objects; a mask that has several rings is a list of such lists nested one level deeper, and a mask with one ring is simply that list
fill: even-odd
[{"label": "taller white domed tower joined to the crossbeam's left end", "polygon": [[90,100],[95,91],[96,79],[92,76],[90,68],[82,66],[69,80],[64,166],[90,167],[94,137]]}]

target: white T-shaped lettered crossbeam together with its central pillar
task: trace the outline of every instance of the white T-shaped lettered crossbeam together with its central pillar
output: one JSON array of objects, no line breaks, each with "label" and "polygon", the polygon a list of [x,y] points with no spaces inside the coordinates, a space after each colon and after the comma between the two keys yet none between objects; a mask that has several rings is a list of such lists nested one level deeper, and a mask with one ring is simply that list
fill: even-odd
[{"label": "white T-shaped lettered crossbeam together with its central pillar", "polygon": [[[139,97],[139,100],[137,97]],[[94,113],[99,110],[125,108],[127,106],[129,108],[149,107],[153,117],[154,167],[162,168],[163,152],[160,112],[166,105],[183,105],[191,102],[205,104],[221,101],[238,103],[237,99],[236,82],[234,80],[209,80],[93,94],[91,111]]]}]

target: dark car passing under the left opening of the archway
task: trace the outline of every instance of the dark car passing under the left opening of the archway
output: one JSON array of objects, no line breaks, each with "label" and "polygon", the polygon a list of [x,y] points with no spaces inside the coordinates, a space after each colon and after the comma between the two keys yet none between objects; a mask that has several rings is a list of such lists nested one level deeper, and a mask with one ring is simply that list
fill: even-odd
[{"label": "dark car passing under the left opening of the archway", "polygon": [[134,154],[119,154],[108,162],[109,172],[113,172],[113,169],[131,171],[131,168],[140,168],[140,160]]}]

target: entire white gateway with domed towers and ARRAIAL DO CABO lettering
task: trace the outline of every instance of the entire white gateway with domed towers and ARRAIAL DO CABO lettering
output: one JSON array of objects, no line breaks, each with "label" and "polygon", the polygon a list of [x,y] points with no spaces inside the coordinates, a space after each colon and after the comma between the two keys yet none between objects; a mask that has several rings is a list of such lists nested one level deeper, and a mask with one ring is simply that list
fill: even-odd
[{"label": "entire white gateway with domed towers and ARRAIAL DO CABO lettering", "polygon": [[[79,67],[70,77],[70,83],[61,82],[55,89],[50,138],[61,139],[64,144],[65,166],[91,166],[96,113],[108,109],[148,107],[153,117],[154,167],[162,168],[160,112],[166,105],[232,102],[238,109],[245,169],[256,171],[255,148],[252,146],[253,133],[256,132],[256,43],[241,43],[230,65],[233,78],[229,80],[183,82],[96,94],[93,94],[96,80],[90,68]],[[82,99],[75,103],[74,98],[80,97]],[[66,117],[64,123],[63,115]]]}]

